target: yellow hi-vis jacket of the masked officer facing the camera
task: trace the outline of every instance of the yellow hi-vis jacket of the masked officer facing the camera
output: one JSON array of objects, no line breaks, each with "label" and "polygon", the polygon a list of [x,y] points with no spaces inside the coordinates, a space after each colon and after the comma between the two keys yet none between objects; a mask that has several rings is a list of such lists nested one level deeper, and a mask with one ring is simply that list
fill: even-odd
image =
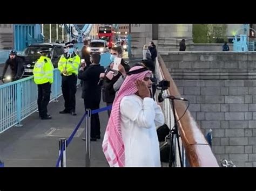
[{"label": "yellow hi-vis jacket of the masked officer facing the camera", "polygon": [[[60,57],[58,62],[58,69],[60,73],[65,76],[70,76],[72,74],[78,74],[78,67],[80,65],[80,56],[75,54],[75,56],[68,59],[65,58],[64,54]],[[63,71],[66,70],[66,74]]]}]

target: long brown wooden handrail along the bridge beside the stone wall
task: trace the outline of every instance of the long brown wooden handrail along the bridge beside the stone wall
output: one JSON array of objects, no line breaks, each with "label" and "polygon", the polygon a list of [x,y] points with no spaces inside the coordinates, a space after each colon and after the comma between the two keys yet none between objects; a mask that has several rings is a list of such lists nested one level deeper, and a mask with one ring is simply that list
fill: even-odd
[{"label": "long brown wooden handrail along the bridge beside the stone wall", "polygon": [[[161,56],[158,56],[159,69],[164,75],[164,79],[170,81],[170,88],[167,89],[170,95],[179,96],[178,88],[173,81]],[[181,101],[174,101],[177,119],[184,114],[186,105]],[[188,108],[189,109],[189,108]],[[219,167],[210,145],[207,143],[203,133],[196,121],[187,110],[183,118],[180,119],[179,133],[186,151],[186,157],[191,167]]]}]

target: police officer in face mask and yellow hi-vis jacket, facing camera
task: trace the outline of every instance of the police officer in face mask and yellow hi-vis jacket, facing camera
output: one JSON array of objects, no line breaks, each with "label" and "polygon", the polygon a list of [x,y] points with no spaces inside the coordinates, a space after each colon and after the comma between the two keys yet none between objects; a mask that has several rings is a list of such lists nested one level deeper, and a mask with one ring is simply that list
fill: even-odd
[{"label": "police officer in face mask and yellow hi-vis jacket, facing camera", "polygon": [[68,51],[60,57],[58,62],[58,69],[62,75],[65,109],[59,113],[76,115],[77,74],[80,57],[74,52],[74,44],[69,42],[65,45]]}]

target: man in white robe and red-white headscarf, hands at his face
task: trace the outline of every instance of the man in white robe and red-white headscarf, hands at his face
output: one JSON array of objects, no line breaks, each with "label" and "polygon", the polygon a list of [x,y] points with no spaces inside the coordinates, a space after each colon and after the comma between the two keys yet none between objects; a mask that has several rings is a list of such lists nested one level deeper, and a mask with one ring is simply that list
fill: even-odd
[{"label": "man in white robe and red-white headscarf, hands at his face", "polygon": [[112,167],[160,167],[156,126],[164,124],[159,105],[150,97],[151,72],[130,69],[112,106],[103,152]]}]

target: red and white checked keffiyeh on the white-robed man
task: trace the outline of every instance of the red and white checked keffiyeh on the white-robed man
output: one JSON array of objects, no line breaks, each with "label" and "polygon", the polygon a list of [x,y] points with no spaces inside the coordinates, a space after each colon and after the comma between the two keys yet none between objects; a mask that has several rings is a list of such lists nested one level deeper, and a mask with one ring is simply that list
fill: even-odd
[{"label": "red and white checked keffiyeh on the white-robed man", "polygon": [[[130,71],[143,68],[143,66],[135,66]],[[125,148],[122,139],[121,123],[120,123],[120,102],[123,97],[134,95],[138,89],[136,80],[143,80],[144,77],[150,75],[150,70],[141,73],[126,76],[118,94],[114,98],[112,111],[107,123],[106,132],[103,139],[103,152],[109,162],[110,167],[124,167],[125,166]]]}]

